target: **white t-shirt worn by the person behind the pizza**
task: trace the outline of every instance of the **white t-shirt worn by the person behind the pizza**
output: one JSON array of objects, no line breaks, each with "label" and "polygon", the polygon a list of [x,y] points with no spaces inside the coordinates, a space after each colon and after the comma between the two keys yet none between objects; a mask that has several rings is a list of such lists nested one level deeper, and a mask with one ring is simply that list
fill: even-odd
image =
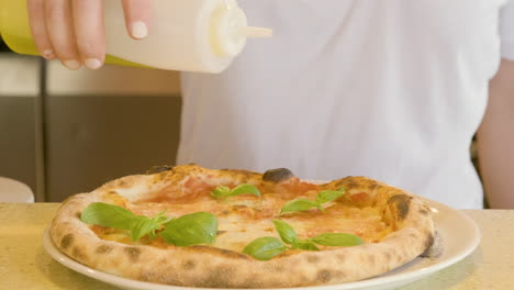
[{"label": "white t-shirt worn by the person behind the pizza", "polygon": [[501,59],[503,0],[238,2],[275,36],[221,75],[183,75],[179,164],[368,176],[482,207],[469,147]]}]

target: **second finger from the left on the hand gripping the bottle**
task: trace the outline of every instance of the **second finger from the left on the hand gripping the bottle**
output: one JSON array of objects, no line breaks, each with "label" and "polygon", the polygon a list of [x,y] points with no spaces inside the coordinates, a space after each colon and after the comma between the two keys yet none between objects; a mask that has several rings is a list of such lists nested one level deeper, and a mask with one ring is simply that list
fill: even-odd
[{"label": "second finger from the left on the hand gripping the bottle", "polygon": [[46,33],[54,52],[67,68],[76,70],[81,66],[71,21],[69,0],[45,0]]}]

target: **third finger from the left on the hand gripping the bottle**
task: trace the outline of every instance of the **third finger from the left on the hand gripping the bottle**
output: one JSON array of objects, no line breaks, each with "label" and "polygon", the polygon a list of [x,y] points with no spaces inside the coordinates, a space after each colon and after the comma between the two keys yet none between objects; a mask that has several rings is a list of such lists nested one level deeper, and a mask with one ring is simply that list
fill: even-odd
[{"label": "third finger from the left on the hand gripping the bottle", "polygon": [[72,0],[71,10],[81,62],[89,69],[98,69],[105,59],[102,0]]}]

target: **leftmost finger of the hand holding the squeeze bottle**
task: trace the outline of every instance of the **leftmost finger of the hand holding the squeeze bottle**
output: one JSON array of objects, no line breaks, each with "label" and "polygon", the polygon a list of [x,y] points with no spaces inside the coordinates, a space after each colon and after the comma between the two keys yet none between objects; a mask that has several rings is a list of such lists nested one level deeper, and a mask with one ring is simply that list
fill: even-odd
[{"label": "leftmost finger of the hand holding the squeeze bottle", "polygon": [[43,0],[27,0],[26,8],[32,37],[34,38],[37,52],[48,60],[54,59],[54,49],[52,48],[48,35],[46,34]]}]

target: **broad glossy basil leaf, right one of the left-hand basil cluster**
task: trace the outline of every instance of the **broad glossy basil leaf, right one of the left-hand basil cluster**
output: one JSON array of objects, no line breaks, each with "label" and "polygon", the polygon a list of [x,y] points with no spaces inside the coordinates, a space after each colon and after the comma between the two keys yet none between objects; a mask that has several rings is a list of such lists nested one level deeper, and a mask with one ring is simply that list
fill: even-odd
[{"label": "broad glossy basil leaf, right one of the left-hand basil cluster", "polygon": [[186,214],[166,223],[160,236],[168,244],[187,247],[212,244],[217,235],[217,220],[212,213],[197,212]]}]

